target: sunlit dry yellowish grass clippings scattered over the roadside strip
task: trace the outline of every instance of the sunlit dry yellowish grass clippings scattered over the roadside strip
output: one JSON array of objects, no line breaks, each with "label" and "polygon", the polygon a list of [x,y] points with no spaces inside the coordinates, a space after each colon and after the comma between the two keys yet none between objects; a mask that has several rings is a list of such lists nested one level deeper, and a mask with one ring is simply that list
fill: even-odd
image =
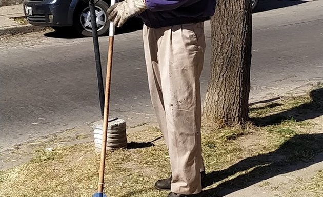
[{"label": "sunlit dry yellowish grass clippings scattered over the roadside strip", "polygon": [[[265,123],[259,127],[221,130],[203,128],[203,156],[207,172],[220,172],[248,157],[271,155],[272,152],[284,148],[284,144],[291,139],[306,134],[315,126],[314,123],[308,120],[298,121],[289,116],[288,112],[293,113],[293,109],[297,109],[294,112],[299,113],[299,110],[308,109],[313,102],[317,101],[313,101],[310,95],[305,95],[279,100],[276,104],[252,106],[250,116],[255,122],[259,122],[259,125],[261,121]],[[322,101],[318,101],[315,105],[315,109],[323,109]],[[278,120],[277,117],[280,116],[277,114],[285,116],[277,124],[268,124],[270,121]],[[144,143],[160,136],[161,133],[157,128],[149,128],[128,134],[128,142]],[[245,139],[252,138],[257,142],[241,144]],[[107,196],[167,196],[168,192],[155,190],[153,184],[157,179],[170,175],[169,156],[163,139],[154,144],[155,146],[146,148],[107,153],[105,170]],[[306,149],[309,144],[311,145],[311,141],[305,138],[299,146],[289,147],[284,161],[308,161],[316,153],[323,151],[320,147],[309,151],[309,148]],[[96,192],[99,154],[94,153],[92,143],[57,146],[52,151],[46,151],[45,148],[35,149],[31,161],[0,171],[0,196],[91,196]],[[208,188],[237,180],[261,165],[264,164],[256,161],[253,167],[227,173],[222,180],[214,180],[214,184]],[[247,176],[240,181],[240,184],[243,186],[248,179],[252,177]],[[233,183],[239,185],[236,184],[237,181]]]}]

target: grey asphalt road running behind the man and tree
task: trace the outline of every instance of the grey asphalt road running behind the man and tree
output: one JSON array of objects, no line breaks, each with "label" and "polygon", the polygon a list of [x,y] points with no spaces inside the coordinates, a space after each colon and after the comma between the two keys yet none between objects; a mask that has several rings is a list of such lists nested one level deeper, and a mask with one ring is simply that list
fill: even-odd
[{"label": "grey asphalt road running behind the man and tree", "polygon": [[[323,81],[323,1],[262,1],[253,14],[250,102],[272,99]],[[209,75],[206,22],[203,95]],[[103,65],[107,37],[100,38]],[[0,151],[32,137],[100,119],[91,38],[32,33],[0,41]],[[154,122],[142,31],[115,37],[111,117],[127,125]]]}]

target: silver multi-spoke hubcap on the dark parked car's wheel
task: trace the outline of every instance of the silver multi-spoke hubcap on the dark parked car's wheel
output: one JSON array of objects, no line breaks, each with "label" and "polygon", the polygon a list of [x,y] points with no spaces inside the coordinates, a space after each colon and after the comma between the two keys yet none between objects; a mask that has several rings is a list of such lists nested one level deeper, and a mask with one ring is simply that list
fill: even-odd
[{"label": "silver multi-spoke hubcap on the dark parked car's wheel", "polygon": [[[107,22],[106,12],[102,8],[95,6],[97,31],[104,28]],[[80,21],[86,31],[92,32],[91,13],[89,7],[85,8],[80,15]]]}]

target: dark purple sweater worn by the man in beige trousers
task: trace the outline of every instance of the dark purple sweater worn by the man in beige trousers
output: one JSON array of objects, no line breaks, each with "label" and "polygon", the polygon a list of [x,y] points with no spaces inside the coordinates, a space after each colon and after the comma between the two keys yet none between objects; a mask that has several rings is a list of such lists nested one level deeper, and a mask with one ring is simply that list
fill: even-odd
[{"label": "dark purple sweater worn by the man in beige trousers", "polygon": [[215,12],[216,0],[146,0],[139,15],[151,28],[203,22]]}]

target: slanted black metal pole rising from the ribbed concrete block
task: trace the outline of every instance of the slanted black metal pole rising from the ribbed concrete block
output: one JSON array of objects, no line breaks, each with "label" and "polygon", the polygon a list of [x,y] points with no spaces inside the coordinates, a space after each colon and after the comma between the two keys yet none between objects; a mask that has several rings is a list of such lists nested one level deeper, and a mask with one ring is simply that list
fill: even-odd
[{"label": "slanted black metal pole rising from the ribbed concrete block", "polygon": [[99,48],[98,35],[97,35],[96,13],[95,13],[94,5],[95,5],[94,2],[90,0],[89,8],[91,13],[92,37],[93,37],[93,45],[94,45],[97,84],[98,84],[101,115],[103,116],[104,87],[103,87],[102,67],[101,67],[101,58],[100,58],[100,48]]}]

